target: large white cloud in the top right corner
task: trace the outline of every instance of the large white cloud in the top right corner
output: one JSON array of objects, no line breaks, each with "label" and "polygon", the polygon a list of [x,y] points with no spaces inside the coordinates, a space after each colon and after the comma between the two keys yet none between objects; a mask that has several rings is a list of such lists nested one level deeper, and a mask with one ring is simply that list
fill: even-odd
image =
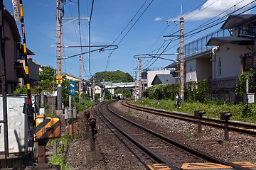
[{"label": "large white cloud in the top right corner", "polygon": [[[185,15],[183,15],[184,20],[188,21],[188,20],[192,20],[192,21],[198,21],[198,20],[204,20],[204,19],[208,19],[208,18],[213,18],[214,16],[218,16],[220,13],[222,13],[219,17],[221,16],[225,16],[226,14],[237,10],[238,8],[245,6],[246,4],[249,4],[250,2],[252,2],[252,0],[244,0],[242,1],[240,4],[238,4],[239,2],[241,2],[241,0],[208,0],[206,1],[205,4],[203,4],[203,6],[201,6],[200,9],[196,9],[194,11],[191,11],[189,13],[185,13]],[[236,5],[238,4],[238,5]],[[252,4],[255,4],[252,3]],[[250,6],[252,6],[252,4],[250,4]],[[236,5],[236,6],[235,6]],[[230,10],[228,10],[228,8],[230,8]],[[228,11],[226,11],[228,10]],[[223,13],[223,11],[225,11]],[[244,8],[242,8],[241,11],[244,11]],[[241,11],[235,12],[235,13],[240,13]],[[180,16],[176,17],[176,18],[170,18],[169,21],[178,21],[180,18]]]}]

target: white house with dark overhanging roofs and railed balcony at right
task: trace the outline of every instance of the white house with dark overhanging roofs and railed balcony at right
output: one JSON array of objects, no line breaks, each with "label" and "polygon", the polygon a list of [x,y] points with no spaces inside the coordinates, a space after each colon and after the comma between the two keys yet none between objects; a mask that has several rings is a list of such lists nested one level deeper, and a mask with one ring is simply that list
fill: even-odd
[{"label": "white house with dark overhanging roofs and railed balcony at right", "polygon": [[[256,15],[229,16],[221,30],[186,44],[186,81],[208,79],[210,99],[234,102],[236,79],[256,69],[255,23]],[[179,70],[179,64],[166,68]]]}]

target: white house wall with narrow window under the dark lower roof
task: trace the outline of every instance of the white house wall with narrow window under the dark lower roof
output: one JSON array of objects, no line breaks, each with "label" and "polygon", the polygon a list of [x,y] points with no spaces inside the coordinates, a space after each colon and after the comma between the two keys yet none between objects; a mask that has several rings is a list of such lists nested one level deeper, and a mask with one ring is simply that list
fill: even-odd
[{"label": "white house wall with narrow window under the dark lower roof", "polygon": [[[213,79],[236,77],[241,74],[240,55],[251,52],[246,45],[222,43],[213,57]],[[221,73],[219,71],[221,62]]]}]

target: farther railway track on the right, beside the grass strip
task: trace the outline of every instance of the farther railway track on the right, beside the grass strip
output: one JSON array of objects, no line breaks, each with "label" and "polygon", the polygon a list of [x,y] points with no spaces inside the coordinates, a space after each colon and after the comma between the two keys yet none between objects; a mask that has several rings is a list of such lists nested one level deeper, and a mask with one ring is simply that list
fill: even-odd
[{"label": "farther railway track on the right, beside the grass strip", "polygon": [[[176,118],[176,119],[185,120],[192,123],[198,123],[198,118],[195,118],[194,115],[191,115],[191,114],[160,111],[155,108],[146,108],[144,106],[138,106],[133,103],[129,103],[129,101],[122,101],[122,105],[127,106],[129,108],[136,109],[138,111],[144,111],[147,113],[154,113],[157,115],[163,115],[170,118]],[[218,120],[214,118],[203,117],[201,118],[201,124],[208,125],[215,128],[225,128],[225,120]],[[242,123],[242,122],[230,120],[228,121],[228,130],[256,136],[256,125],[252,123]]]}]

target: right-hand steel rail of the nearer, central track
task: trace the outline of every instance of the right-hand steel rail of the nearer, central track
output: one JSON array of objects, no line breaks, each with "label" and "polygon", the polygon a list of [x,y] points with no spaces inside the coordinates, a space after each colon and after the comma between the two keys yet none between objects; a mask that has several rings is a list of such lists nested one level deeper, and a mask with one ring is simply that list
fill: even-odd
[{"label": "right-hand steel rail of the nearer, central track", "polygon": [[166,142],[169,142],[171,145],[175,145],[176,147],[180,148],[180,149],[183,149],[183,150],[186,150],[186,152],[189,152],[191,154],[194,154],[196,155],[197,157],[202,157],[203,159],[207,160],[208,162],[213,162],[213,163],[217,163],[217,164],[224,164],[224,165],[227,165],[227,166],[231,166],[233,167],[234,169],[245,169],[243,168],[242,166],[239,166],[237,164],[233,164],[233,163],[230,163],[230,162],[225,162],[221,159],[218,159],[218,158],[215,158],[215,157],[212,157],[208,154],[204,154],[203,152],[200,152],[196,149],[193,149],[191,147],[187,147],[186,145],[183,145],[181,143],[178,143],[176,142],[175,140],[172,140],[170,139],[169,137],[165,137],[164,135],[161,135],[159,134],[158,132],[154,132],[153,130],[149,130],[148,128],[144,128],[142,127],[141,125],[137,124],[137,123],[134,123],[132,122],[131,120],[128,120],[127,118],[124,118],[123,116],[121,115],[118,115],[117,113],[114,113],[114,111],[112,111],[108,105],[110,103],[107,103],[107,109],[109,111],[111,111],[114,115],[117,115],[119,118],[122,118],[123,120],[126,120],[128,123],[131,123],[132,125],[135,125],[137,126],[138,128],[142,129],[142,130],[145,130],[146,132],[149,132],[151,135],[154,135],[156,137],[159,137],[161,140],[164,140]]}]

